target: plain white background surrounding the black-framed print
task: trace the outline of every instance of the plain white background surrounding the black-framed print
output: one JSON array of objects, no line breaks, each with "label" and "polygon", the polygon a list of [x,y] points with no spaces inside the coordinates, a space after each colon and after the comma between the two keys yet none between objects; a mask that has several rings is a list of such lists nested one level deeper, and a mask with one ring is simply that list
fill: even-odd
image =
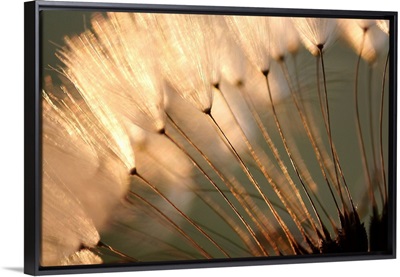
[{"label": "plain white background surrounding the black-framed print", "polygon": [[[111,2],[100,1],[97,2]],[[118,2],[135,3],[144,1]],[[158,4],[188,4],[188,0],[145,1]],[[8,1],[2,6],[0,19],[2,56],[1,81],[2,98],[0,108],[1,136],[0,161],[1,186],[1,256],[0,275],[17,276],[23,272],[23,1]],[[363,9],[363,10],[395,10],[400,4],[395,1],[324,1],[317,5],[316,1],[281,0],[261,3],[257,0],[191,0],[192,5],[230,5],[253,6],[263,5],[276,8],[320,8],[320,9]],[[5,63],[4,63],[5,61]],[[399,172],[399,170],[397,170]],[[399,232],[397,232],[399,234]],[[241,268],[196,269],[175,271],[137,272],[135,276],[194,276],[203,275],[265,275],[269,276],[378,276],[393,274],[400,268],[398,260],[363,261],[346,263],[319,263],[303,265],[258,266]],[[395,274],[395,273],[394,273]],[[131,276],[132,273],[110,273],[101,276]],[[75,275],[81,276],[81,275]],[[92,274],[90,276],[100,276]]]}]

